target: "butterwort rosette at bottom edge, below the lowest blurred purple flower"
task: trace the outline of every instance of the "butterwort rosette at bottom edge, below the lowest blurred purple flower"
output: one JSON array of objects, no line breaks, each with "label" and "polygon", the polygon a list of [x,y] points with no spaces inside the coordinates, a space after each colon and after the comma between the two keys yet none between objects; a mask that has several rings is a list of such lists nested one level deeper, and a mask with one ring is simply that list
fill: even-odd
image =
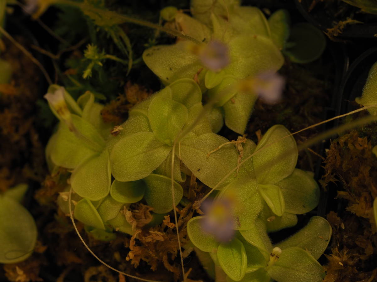
[{"label": "butterwort rosette at bottom edge, below the lowest blurred purple flower", "polygon": [[[248,230],[239,230],[230,242],[218,242],[203,233],[203,216],[187,224],[191,242],[215,262],[216,281],[228,282],[319,282],[324,277],[317,259],[331,238],[331,226],[322,217],[309,223],[290,238],[272,245],[265,224],[257,219]],[[205,267],[205,265],[204,265]]]}]

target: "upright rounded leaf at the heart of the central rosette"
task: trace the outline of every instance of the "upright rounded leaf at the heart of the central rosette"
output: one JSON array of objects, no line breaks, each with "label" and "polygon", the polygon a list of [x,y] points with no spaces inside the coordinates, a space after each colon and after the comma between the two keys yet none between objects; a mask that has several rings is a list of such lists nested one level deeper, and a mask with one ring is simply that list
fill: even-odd
[{"label": "upright rounded leaf at the heart of the central rosette", "polygon": [[172,145],[187,121],[187,108],[173,99],[155,97],[149,105],[148,119],[156,138]]}]

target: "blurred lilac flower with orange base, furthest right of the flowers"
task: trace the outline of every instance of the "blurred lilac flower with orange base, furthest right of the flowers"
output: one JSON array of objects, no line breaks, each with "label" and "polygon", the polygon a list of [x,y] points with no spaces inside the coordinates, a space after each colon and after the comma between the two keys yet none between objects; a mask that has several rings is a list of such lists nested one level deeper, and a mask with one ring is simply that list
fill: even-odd
[{"label": "blurred lilac flower with orange base, furthest right of the flowers", "polygon": [[275,104],[280,101],[285,86],[284,77],[270,71],[259,74],[253,80],[254,91],[264,102]]}]

